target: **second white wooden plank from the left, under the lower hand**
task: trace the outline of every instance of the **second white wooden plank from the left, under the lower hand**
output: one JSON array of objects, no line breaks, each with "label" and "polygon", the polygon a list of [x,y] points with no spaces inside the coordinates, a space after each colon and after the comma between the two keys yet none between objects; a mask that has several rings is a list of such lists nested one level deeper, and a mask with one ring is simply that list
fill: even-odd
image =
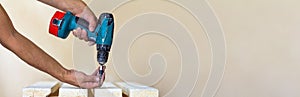
[{"label": "second white wooden plank from the left, under the lower hand", "polygon": [[89,97],[89,90],[63,83],[59,89],[58,97]]}]

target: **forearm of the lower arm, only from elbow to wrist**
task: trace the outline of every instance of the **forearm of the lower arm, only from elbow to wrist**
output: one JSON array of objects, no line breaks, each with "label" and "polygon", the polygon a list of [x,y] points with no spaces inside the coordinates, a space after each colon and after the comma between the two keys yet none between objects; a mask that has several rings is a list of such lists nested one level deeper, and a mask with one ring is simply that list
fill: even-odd
[{"label": "forearm of the lower arm, only from elbow to wrist", "polygon": [[3,46],[14,52],[29,65],[63,81],[64,76],[68,73],[65,68],[16,30],[12,31],[14,32],[3,42]]}]

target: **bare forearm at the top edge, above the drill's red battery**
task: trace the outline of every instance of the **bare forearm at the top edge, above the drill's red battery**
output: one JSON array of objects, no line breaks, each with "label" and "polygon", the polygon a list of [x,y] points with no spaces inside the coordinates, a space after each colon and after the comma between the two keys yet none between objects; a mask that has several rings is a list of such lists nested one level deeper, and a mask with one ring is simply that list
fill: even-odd
[{"label": "bare forearm at the top edge, above the drill's red battery", "polygon": [[86,4],[81,0],[38,0],[63,11],[71,11],[73,14],[81,13]]}]

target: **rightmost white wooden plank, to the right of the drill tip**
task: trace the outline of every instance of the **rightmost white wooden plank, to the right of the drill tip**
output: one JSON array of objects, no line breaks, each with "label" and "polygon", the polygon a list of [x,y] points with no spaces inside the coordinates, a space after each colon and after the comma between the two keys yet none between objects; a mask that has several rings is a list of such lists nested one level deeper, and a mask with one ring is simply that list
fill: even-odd
[{"label": "rightmost white wooden plank, to the right of the drill tip", "polygon": [[132,82],[116,82],[128,97],[158,97],[159,91],[155,88]]}]

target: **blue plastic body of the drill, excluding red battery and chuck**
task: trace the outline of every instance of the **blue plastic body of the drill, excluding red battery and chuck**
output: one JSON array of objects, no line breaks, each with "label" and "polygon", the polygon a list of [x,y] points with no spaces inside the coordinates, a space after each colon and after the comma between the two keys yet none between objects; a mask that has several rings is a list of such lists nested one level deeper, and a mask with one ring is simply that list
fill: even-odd
[{"label": "blue plastic body of the drill, excluding red battery and chuck", "polygon": [[71,12],[66,12],[63,17],[63,20],[57,20],[57,25],[60,25],[58,30],[58,37],[67,38],[70,31],[80,27],[87,31],[87,35],[90,40],[95,41],[96,44],[112,44],[113,30],[114,30],[114,21],[112,15],[109,16],[109,13],[103,13],[99,17],[98,24],[94,30],[91,32],[88,29],[88,22],[74,16]]}]

